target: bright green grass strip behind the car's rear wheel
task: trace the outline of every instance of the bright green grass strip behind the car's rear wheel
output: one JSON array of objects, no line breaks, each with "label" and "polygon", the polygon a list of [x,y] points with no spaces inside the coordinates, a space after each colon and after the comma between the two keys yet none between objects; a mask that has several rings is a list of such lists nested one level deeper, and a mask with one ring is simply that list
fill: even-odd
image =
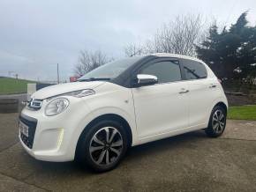
[{"label": "bright green grass strip behind the car's rear wheel", "polygon": [[230,107],[229,112],[228,112],[228,119],[256,121],[256,105],[255,106]]}]

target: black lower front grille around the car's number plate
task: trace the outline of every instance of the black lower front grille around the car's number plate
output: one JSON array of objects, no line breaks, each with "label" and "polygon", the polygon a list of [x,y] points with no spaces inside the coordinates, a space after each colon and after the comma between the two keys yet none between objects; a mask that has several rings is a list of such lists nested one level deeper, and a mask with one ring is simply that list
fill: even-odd
[{"label": "black lower front grille around the car's number plate", "polygon": [[23,122],[28,127],[28,137],[26,137],[23,133],[20,132],[20,138],[28,148],[32,149],[33,143],[34,143],[34,133],[37,125],[37,120],[32,117],[29,117],[29,119],[30,120],[22,116],[19,116],[19,121]]}]

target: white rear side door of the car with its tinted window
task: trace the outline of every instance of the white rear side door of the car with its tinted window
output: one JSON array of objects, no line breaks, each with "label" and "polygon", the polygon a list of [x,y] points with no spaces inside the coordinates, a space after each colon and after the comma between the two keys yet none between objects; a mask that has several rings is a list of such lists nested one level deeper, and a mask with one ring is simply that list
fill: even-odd
[{"label": "white rear side door of the car with its tinted window", "polygon": [[215,85],[207,78],[207,69],[203,63],[182,59],[184,76],[189,89],[189,126],[202,128],[207,126],[209,107],[215,100]]}]

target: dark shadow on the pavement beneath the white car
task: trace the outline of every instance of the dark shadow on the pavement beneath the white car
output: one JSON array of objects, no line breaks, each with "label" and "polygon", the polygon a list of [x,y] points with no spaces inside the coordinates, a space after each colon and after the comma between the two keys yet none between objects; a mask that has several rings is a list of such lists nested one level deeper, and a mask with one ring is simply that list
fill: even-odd
[{"label": "dark shadow on the pavement beneath the white car", "polygon": [[[162,140],[150,142],[147,144],[140,144],[134,146],[127,152],[124,163],[133,163],[145,156],[156,156],[164,151],[170,151],[180,147],[193,147],[192,143],[200,140],[208,139],[203,130],[185,133],[175,137],[164,138]],[[35,160],[32,157],[28,158],[30,163],[34,166],[34,170],[41,170],[42,172],[54,172],[55,174],[94,174],[89,168],[81,167],[79,164],[73,162],[47,162]],[[32,167],[31,167],[32,168]],[[118,168],[118,167],[117,167]]]}]

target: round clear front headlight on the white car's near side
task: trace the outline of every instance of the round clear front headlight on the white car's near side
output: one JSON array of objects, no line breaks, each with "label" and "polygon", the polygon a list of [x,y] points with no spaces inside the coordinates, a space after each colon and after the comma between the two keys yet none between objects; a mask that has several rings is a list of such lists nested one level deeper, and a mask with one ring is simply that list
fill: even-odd
[{"label": "round clear front headlight on the white car's near side", "polygon": [[60,114],[69,106],[69,103],[69,100],[65,98],[56,98],[55,100],[51,100],[45,107],[45,114],[47,116]]}]

